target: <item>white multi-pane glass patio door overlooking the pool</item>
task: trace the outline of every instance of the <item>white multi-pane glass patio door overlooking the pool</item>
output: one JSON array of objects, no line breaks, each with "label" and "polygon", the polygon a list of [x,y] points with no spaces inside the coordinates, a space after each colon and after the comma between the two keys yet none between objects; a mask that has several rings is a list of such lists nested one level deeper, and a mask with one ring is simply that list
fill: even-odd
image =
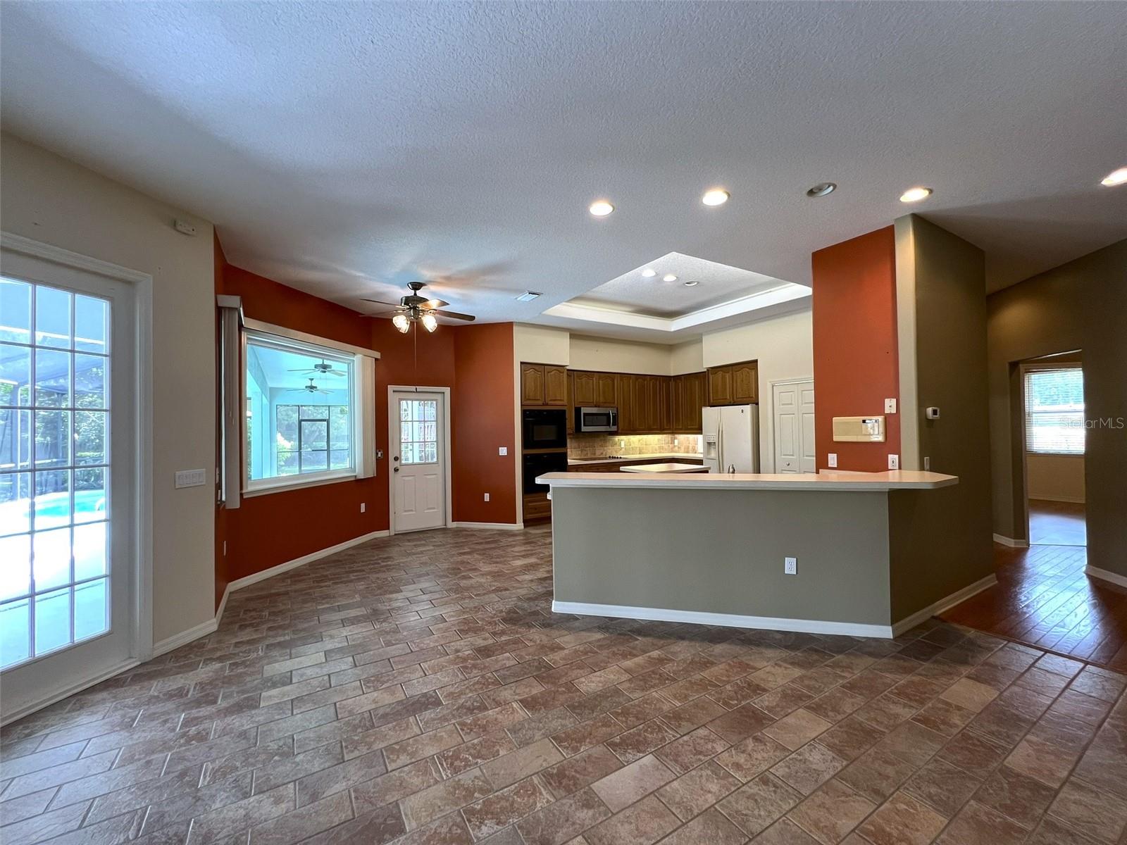
[{"label": "white multi-pane glass patio door overlooking the pool", "polygon": [[5,255],[0,686],[6,721],[123,668],[134,642],[132,290]]}]

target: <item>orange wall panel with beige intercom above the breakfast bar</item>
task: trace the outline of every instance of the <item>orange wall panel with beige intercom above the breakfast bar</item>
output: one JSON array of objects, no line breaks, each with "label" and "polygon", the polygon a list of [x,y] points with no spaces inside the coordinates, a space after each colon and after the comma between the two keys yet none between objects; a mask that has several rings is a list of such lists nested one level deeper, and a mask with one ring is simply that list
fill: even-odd
[{"label": "orange wall panel with beige intercom above the breakfast bar", "polygon": [[899,416],[885,417],[885,443],[834,443],[833,418],[899,404],[893,226],[819,249],[811,263],[817,468],[836,452],[838,470],[882,472],[900,452]]}]

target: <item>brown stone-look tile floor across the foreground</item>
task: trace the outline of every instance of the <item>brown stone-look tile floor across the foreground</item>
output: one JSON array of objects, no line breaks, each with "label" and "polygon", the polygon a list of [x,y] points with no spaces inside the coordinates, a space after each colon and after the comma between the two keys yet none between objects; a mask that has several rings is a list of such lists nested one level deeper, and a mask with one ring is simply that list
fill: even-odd
[{"label": "brown stone-look tile floor across the foreground", "polygon": [[1117,845],[1127,677],[552,615],[549,528],[378,540],[0,732],[5,843]]}]

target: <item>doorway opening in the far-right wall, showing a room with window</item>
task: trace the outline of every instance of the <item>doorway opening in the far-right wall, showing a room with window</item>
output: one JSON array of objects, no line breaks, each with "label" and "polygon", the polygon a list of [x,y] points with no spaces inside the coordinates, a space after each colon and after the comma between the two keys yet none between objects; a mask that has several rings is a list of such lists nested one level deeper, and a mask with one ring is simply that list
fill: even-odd
[{"label": "doorway opening in the far-right wall, showing a room with window", "polygon": [[1086,546],[1082,355],[1030,358],[1019,370],[1029,544]]}]

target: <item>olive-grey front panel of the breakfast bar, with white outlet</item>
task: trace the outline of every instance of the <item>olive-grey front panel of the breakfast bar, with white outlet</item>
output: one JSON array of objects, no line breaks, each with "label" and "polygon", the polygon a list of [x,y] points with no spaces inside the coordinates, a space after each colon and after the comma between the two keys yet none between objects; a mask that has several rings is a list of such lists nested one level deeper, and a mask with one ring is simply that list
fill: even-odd
[{"label": "olive-grey front panel of the breakfast bar, with white outlet", "polygon": [[[557,487],[554,598],[888,625],[887,501],[884,491]],[[783,573],[788,555],[798,575]]]}]

